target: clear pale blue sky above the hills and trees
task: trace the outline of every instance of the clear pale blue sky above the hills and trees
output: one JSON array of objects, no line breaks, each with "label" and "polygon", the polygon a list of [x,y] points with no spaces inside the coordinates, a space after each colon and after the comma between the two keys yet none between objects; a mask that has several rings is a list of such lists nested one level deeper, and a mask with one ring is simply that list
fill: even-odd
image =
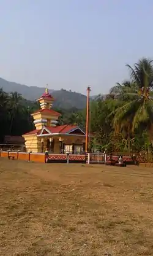
[{"label": "clear pale blue sky above the hills and trees", "polygon": [[153,57],[152,0],[0,0],[0,77],[106,93]]}]

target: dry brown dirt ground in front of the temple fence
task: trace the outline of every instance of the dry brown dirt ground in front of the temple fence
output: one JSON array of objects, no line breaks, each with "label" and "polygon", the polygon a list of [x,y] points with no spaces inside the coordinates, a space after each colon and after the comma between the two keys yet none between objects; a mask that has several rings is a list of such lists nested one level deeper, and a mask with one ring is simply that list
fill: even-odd
[{"label": "dry brown dirt ground in front of the temple fence", "polygon": [[0,158],[0,255],[153,255],[153,171]]}]

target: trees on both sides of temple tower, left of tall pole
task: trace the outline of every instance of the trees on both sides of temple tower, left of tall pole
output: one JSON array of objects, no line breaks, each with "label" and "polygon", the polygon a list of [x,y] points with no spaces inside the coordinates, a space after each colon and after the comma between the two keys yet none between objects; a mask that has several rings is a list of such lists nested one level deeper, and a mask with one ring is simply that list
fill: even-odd
[{"label": "trees on both sides of temple tower, left of tall pole", "polygon": [[[75,124],[84,129],[84,115],[76,107],[69,110],[53,107],[62,114],[58,125]],[[34,130],[31,113],[40,109],[39,103],[24,99],[17,91],[6,93],[0,88],[0,142],[5,135],[22,135]]]}]

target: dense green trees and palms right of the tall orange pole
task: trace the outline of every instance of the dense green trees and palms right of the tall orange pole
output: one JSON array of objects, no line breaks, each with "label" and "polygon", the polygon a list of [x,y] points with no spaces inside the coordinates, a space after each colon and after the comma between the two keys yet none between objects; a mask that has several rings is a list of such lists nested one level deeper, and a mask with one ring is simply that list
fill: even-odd
[{"label": "dense green trees and palms right of the tall orange pole", "polygon": [[143,58],[134,65],[127,65],[130,81],[117,83],[110,94],[97,99],[92,106],[92,130],[101,149],[120,152],[142,151],[152,145],[153,122],[153,66]]}]

